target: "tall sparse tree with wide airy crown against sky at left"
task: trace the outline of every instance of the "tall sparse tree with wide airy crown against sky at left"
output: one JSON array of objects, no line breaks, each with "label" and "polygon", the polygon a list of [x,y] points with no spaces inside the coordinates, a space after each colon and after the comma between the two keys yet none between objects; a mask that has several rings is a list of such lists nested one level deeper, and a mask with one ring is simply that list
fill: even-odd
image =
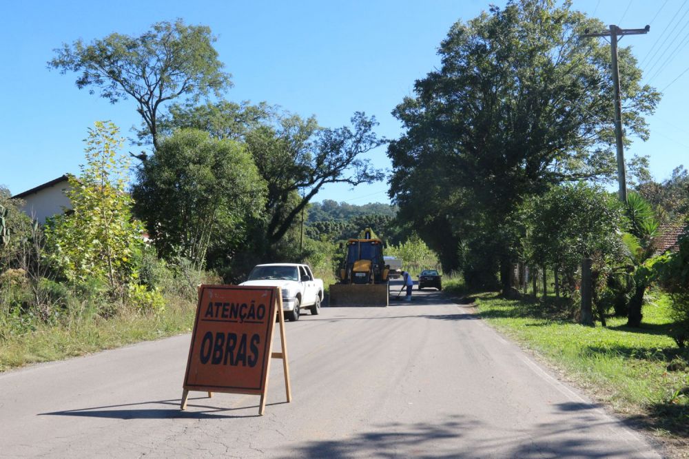
[{"label": "tall sparse tree with wide airy crown against sky at left", "polygon": [[143,119],[139,137],[150,136],[157,149],[161,104],[180,98],[198,101],[229,87],[230,75],[222,71],[215,41],[206,26],[163,21],[138,37],[113,33],[90,44],[81,39],[63,43],[48,66],[63,74],[76,72],[77,88],[98,91],[110,103],[131,96]]}]

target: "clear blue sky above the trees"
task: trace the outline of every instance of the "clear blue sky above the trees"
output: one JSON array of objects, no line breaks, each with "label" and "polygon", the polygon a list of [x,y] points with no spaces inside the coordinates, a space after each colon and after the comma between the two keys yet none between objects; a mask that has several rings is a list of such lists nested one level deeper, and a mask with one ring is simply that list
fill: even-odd
[{"label": "clear blue sky above the trees", "polygon": [[[438,65],[435,51],[452,23],[488,7],[485,0],[6,2],[0,19],[0,185],[17,194],[79,172],[83,139],[94,121],[112,120],[127,136],[139,123],[131,100],[111,105],[78,90],[74,74],[46,68],[61,43],[111,32],[137,35],[156,21],[181,17],[218,36],[220,60],[233,74],[227,99],[315,114],[328,127],[364,111],[378,118],[380,135],[393,139],[401,131],[391,110],[411,94],[415,79]],[[689,165],[689,2],[575,0],[574,8],[623,28],[650,23],[647,35],[624,37],[620,45],[633,46],[645,80],[667,89],[649,119],[650,140],[637,139],[626,154],[648,154],[658,180]],[[391,167],[384,147],[368,157]],[[387,184],[329,185],[316,196],[322,199],[387,202]]]}]

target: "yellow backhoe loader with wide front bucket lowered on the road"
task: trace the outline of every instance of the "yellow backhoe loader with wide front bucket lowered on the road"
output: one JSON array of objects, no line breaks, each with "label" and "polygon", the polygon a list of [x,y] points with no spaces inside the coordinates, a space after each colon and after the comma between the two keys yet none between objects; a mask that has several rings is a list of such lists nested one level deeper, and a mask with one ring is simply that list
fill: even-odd
[{"label": "yellow backhoe loader with wide front bucket lowered on the road", "polygon": [[347,241],[339,283],[330,286],[330,305],[387,306],[390,268],[383,258],[383,243],[370,228],[359,236]]}]

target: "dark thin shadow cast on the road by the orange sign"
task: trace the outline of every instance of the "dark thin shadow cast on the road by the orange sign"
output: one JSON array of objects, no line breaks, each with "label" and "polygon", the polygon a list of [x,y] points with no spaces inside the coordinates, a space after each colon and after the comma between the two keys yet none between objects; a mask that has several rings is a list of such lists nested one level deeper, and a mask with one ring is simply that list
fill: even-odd
[{"label": "dark thin shadow cast on the road by the orange sign", "polygon": [[[65,411],[53,411],[52,413],[40,413],[38,416],[80,416],[87,418],[112,418],[112,419],[227,419],[227,418],[256,418],[256,414],[246,414],[242,416],[232,416],[222,414],[226,411],[239,411],[243,409],[257,409],[258,405],[238,408],[218,408],[208,405],[197,405],[192,400],[210,400],[207,397],[189,398],[187,411],[179,409],[180,399],[155,400],[151,402],[127,403],[124,405],[108,405],[105,407],[91,407],[80,409],[67,409]],[[282,405],[287,402],[268,403],[271,405]],[[141,405],[171,405],[172,408],[131,408],[131,409],[111,409],[123,407],[136,407]],[[188,411],[189,408],[202,408],[200,411]]]}]

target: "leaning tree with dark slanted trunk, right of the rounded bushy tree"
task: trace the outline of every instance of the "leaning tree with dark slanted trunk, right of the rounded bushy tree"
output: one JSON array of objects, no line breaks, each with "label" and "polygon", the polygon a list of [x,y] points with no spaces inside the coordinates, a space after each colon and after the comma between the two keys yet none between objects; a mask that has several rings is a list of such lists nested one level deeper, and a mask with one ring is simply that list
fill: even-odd
[{"label": "leaning tree with dark slanted trunk, right of the rounded bushy tree", "polygon": [[322,128],[313,116],[303,119],[265,103],[228,101],[174,106],[165,121],[168,129],[201,128],[216,139],[245,143],[267,183],[267,221],[257,223],[256,233],[268,246],[280,243],[300,223],[300,214],[324,185],[382,179],[383,173],[362,158],[384,143],[373,132],[377,124],[357,112],[351,127]]}]

